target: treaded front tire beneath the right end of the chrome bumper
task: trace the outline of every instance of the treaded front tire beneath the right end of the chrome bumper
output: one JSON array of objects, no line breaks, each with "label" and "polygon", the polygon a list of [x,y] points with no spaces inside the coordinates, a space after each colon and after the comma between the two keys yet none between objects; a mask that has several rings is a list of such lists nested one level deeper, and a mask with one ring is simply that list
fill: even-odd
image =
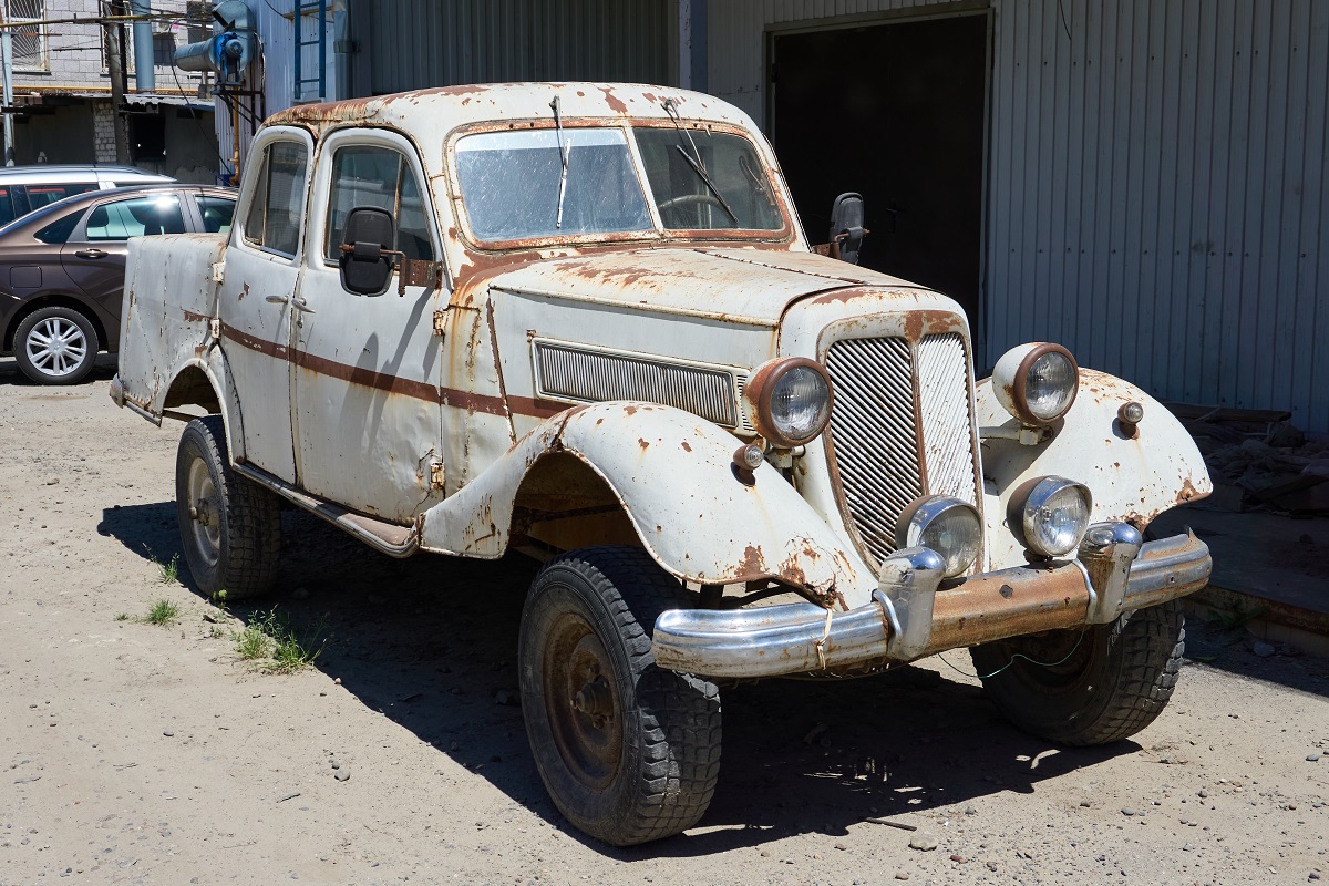
[{"label": "treaded front tire beneath the right end of the chrome bumper", "polygon": [[1181,602],[1168,600],[1090,627],[1083,638],[1080,631],[1017,636],[977,646],[970,656],[979,675],[993,675],[983,688],[1018,728],[1059,744],[1095,745],[1154,723],[1172,697],[1184,651]]}]

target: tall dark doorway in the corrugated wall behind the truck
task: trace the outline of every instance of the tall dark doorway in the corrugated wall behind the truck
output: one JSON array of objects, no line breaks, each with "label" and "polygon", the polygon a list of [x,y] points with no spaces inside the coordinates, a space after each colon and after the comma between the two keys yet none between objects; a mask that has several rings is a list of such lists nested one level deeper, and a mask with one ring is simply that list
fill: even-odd
[{"label": "tall dark doorway in the corrugated wall behind the truck", "polygon": [[775,149],[808,238],[861,193],[860,263],[952,296],[977,335],[986,13],[776,33],[772,60]]}]

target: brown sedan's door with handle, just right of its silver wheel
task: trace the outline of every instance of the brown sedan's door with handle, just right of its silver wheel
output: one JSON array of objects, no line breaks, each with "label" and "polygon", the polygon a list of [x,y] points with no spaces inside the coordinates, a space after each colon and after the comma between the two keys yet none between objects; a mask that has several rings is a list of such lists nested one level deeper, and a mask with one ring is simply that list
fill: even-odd
[{"label": "brown sedan's door with handle, just right of its silver wheel", "polygon": [[106,201],[82,218],[61,247],[60,262],[88,298],[118,315],[129,238],[185,234],[186,230],[178,194],[138,194]]}]

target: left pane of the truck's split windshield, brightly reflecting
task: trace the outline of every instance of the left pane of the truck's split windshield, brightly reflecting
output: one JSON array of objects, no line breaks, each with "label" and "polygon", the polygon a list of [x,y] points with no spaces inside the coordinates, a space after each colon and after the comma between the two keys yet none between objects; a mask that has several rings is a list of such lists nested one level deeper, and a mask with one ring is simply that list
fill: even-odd
[{"label": "left pane of the truck's split windshield, brightly reflecting", "polygon": [[[457,142],[457,183],[481,240],[650,231],[646,195],[619,129],[477,133]],[[562,218],[558,194],[562,190]]]}]

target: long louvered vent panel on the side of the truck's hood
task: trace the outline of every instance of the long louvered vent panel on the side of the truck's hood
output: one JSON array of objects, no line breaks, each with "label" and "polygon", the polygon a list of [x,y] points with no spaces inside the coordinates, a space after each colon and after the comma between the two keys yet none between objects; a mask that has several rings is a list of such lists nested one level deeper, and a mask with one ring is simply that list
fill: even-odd
[{"label": "long louvered vent panel on the side of the truck's hood", "polygon": [[735,377],[723,369],[536,341],[536,384],[546,397],[645,400],[686,409],[724,428],[739,424]]}]

